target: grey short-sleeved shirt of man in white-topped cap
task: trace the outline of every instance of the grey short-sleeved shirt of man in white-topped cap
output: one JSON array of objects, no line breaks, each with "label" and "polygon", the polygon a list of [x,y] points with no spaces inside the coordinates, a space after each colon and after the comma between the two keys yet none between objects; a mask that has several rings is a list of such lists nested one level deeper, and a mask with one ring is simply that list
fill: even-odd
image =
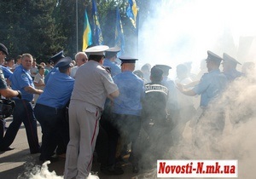
[{"label": "grey short-sleeved shirt of man in white-topped cap", "polygon": [[71,100],[85,101],[103,109],[107,95],[116,90],[118,87],[104,66],[90,60],[79,66]]}]

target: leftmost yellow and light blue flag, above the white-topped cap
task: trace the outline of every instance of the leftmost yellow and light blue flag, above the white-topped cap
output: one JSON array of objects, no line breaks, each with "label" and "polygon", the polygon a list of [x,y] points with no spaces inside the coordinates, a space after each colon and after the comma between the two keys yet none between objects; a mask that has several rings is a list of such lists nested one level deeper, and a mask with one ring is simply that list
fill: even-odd
[{"label": "leftmost yellow and light blue flag, above the white-topped cap", "polygon": [[84,12],[84,34],[83,34],[83,51],[87,49],[88,46],[92,44],[92,37],[91,37],[91,29],[90,23],[88,20],[88,15],[85,9]]}]

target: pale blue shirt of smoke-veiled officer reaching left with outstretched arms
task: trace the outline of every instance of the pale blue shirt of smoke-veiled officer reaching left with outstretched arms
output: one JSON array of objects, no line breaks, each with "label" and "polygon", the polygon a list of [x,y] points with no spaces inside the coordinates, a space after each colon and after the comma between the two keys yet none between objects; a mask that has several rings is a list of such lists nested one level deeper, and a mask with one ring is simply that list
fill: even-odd
[{"label": "pale blue shirt of smoke-veiled officer reaching left with outstretched arms", "polygon": [[224,91],[227,85],[227,78],[223,73],[217,70],[205,73],[193,89],[197,95],[201,95],[200,106],[207,107],[212,99],[216,98]]}]

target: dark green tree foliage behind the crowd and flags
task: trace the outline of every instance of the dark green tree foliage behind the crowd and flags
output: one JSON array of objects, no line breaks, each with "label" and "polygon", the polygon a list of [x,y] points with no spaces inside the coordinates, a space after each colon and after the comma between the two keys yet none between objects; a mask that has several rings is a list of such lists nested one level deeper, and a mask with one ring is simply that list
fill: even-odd
[{"label": "dark green tree foliage behind the crowd and flags", "polygon": [[[143,12],[141,19],[148,14],[149,2],[137,0]],[[127,0],[96,0],[96,3],[104,43],[113,46],[116,7],[129,42],[134,29],[125,14]],[[91,0],[78,0],[78,9],[76,0],[1,0],[0,9],[0,43],[8,47],[12,57],[31,53],[38,61],[47,61],[61,49],[73,57],[82,49],[84,10],[87,9],[90,20],[92,16]]]}]

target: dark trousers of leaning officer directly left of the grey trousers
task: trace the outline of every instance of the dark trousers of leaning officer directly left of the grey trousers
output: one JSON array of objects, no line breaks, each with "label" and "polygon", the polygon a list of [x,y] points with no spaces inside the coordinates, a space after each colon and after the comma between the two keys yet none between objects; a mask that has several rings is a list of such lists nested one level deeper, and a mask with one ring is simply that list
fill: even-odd
[{"label": "dark trousers of leaning officer directly left of the grey trousers", "polygon": [[[48,107],[36,104],[35,115],[42,128],[41,160],[50,159],[54,154],[55,148],[64,146],[63,153],[66,153],[68,143],[68,131],[63,131],[65,120],[65,108]],[[58,153],[61,154],[61,153]]]}]

